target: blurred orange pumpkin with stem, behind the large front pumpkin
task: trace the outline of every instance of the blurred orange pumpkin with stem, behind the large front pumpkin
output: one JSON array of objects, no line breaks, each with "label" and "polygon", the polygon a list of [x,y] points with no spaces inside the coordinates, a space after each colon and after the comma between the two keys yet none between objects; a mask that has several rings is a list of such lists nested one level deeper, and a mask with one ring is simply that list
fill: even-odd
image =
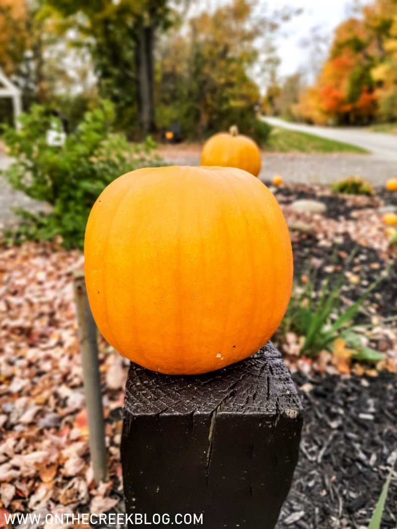
[{"label": "blurred orange pumpkin with stem, behind the large front pumpkin", "polygon": [[236,126],[230,127],[230,134],[215,134],[204,143],[201,153],[202,166],[237,167],[258,176],[260,151],[255,141],[238,133]]}]

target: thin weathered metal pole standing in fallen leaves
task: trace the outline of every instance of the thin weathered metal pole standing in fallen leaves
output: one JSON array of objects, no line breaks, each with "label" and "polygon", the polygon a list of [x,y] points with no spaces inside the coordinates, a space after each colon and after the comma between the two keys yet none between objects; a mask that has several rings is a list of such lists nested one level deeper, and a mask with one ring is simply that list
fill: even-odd
[{"label": "thin weathered metal pole standing in fallen leaves", "polygon": [[103,419],[96,325],[89,308],[84,276],[74,279],[80,352],[87,401],[89,449],[96,484],[107,481],[105,424]]}]

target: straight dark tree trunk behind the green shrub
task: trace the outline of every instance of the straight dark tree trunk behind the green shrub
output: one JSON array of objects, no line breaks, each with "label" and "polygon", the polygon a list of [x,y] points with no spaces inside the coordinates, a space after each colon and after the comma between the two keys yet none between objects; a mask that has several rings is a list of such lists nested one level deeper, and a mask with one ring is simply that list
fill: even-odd
[{"label": "straight dark tree trunk behind the green shrub", "polygon": [[144,134],[155,128],[153,106],[153,47],[154,28],[143,22],[138,30],[137,74],[139,124]]}]

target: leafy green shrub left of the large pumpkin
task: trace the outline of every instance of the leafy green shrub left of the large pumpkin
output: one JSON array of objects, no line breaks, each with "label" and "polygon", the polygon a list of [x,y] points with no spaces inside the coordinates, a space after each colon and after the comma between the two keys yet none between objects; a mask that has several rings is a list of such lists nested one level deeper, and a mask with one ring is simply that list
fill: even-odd
[{"label": "leafy green shrub left of the large pumpkin", "polygon": [[50,124],[61,130],[58,118],[33,105],[20,116],[21,131],[6,127],[4,141],[15,161],[4,172],[8,182],[26,195],[44,200],[50,213],[16,210],[21,224],[14,239],[51,240],[60,235],[66,248],[82,248],[88,214],[96,198],[112,180],[139,167],[162,165],[147,138],[131,146],[124,135],[112,133],[113,108],[102,102],[84,115],[62,147],[50,147]]}]

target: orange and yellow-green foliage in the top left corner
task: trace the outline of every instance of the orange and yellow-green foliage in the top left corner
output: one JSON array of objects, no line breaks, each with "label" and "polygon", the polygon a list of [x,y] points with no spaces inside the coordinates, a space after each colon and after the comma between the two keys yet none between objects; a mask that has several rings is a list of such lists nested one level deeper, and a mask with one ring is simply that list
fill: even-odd
[{"label": "orange and yellow-green foliage in the top left corner", "polygon": [[[43,1],[0,0],[0,68],[20,88],[26,110],[32,103],[52,104],[73,121],[83,100],[83,110],[88,102],[98,103],[95,86],[87,83],[92,63],[88,53],[70,49],[68,39],[57,34],[53,19],[43,16]],[[0,99],[0,122],[13,122],[9,100]]]}]

